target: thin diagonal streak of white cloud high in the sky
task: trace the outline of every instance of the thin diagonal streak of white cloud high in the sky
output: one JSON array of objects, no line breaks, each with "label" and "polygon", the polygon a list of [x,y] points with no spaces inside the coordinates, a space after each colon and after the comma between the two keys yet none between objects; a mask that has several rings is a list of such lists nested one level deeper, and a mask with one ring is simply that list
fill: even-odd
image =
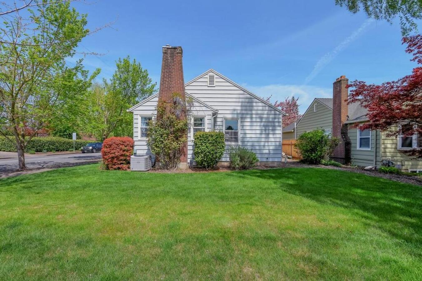
[{"label": "thin diagonal streak of white cloud high in the sky", "polygon": [[358,29],[352,32],[349,37],[347,37],[343,40],[343,42],[337,45],[337,47],[335,47],[333,51],[330,51],[329,53],[322,56],[318,60],[317,64],[315,64],[312,72],[306,77],[305,84],[309,83],[312,79],[314,79],[315,76],[317,76],[318,73],[321,72],[321,70],[338,55],[338,53],[343,51],[344,48],[346,48],[350,43],[356,40],[357,37],[359,37],[359,35],[361,35],[373,21],[373,19],[367,19]]}]

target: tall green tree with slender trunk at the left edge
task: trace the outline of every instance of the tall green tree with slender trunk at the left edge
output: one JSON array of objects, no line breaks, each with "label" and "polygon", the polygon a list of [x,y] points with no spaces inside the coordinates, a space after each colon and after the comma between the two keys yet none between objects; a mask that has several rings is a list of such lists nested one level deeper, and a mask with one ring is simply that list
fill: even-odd
[{"label": "tall green tree with slender trunk at the left edge", "polygon": [[0,134],[16,145],[19,169],[26,168],[24,151],[32,137],[97,74],[89,76],[81,60],[65,64],[89,33],[87,16],[68,1],[31,3],[34,10],[24,16],[17,9],[0,14]]}]

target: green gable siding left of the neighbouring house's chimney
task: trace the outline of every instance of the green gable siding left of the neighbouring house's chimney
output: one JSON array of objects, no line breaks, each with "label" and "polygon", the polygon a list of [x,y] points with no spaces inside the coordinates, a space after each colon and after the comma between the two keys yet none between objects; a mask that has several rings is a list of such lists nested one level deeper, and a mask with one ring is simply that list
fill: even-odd
[{"label": "green gable siding left of the neighbouring house's chimney", "polygon": [[[314,104],[317,103],[317,112],[314,112]],[[311,106],[306,110],[302,119],[296,126],[298,130],[297,137],[306,131],[312,131],[317,128],[323,128],[324,130],[332,129],[333,127],[333,110],[327,107],[325,104],[314,100]]]}]

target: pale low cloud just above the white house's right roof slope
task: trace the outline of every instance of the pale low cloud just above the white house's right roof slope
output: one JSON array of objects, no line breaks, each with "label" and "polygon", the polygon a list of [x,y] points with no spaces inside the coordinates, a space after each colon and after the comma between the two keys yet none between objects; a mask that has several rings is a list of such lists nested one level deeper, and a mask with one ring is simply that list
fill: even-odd
[{"label": "pale low cloud just above the white house's right roof slope", "polygon": [[263,98],[272,96],[271,102],[275,102],[276,100],[281,101],[287,97],[295,96],[299,98],[300,113],[305,112],[314,98],[331,98],[333,96],[332,88],[322,88],[310,85],[273,84],[266,86],[250,86],[244,84],[242,86]]}]

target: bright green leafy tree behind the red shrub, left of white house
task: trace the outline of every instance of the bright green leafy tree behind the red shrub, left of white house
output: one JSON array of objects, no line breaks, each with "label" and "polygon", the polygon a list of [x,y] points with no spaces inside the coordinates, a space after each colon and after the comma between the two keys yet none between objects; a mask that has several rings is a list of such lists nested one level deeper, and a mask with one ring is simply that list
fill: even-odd
[{"label": "bright green leafy tree behind the red shrub, left of white house", "polygon": [[127,109],[155,93],[148,71],[127,56],[116,62],[116,71],[108,82],[96,83],[91,90],[87,132],[97,139],[109,136],[132,136],[133,114]]}]

